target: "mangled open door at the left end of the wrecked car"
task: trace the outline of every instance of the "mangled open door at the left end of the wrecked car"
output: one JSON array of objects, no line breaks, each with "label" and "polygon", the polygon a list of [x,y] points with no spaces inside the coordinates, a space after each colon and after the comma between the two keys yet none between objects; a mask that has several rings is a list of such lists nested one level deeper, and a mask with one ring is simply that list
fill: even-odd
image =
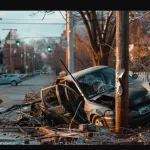
[{"label": "mangled open door at the left end of the wrecked car", "polygon": [[67,116],[69,113],[62,105],[57,85],[41,89],[41,98],[49,124],[70,123],[70,117]]}]

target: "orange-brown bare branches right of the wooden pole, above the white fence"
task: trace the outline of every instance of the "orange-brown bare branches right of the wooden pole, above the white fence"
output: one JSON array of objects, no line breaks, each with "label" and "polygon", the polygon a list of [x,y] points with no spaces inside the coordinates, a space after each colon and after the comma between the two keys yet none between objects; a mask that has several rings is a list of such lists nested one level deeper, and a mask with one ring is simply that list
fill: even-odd
[{"label": "orange-brown bare branches right of the wooden pole, above the white fence", "polygon": [[130,19],[129,38],[130,70],[133,72],[149,71],[149,11],[132,11]]}]

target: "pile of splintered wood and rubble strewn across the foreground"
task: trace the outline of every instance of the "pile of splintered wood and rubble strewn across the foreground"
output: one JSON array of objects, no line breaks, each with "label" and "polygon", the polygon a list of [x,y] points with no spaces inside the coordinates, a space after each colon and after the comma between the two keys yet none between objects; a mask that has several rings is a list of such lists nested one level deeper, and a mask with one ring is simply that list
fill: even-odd
[{"label": "pile of splintered wood and rubble strewn across the foreground", "polygon": [[149,132],[149,127],[115,134],[93,124],[50,125],[37,93],[26,94],[23,103],[0,111],[0,145],[150,145]]}]

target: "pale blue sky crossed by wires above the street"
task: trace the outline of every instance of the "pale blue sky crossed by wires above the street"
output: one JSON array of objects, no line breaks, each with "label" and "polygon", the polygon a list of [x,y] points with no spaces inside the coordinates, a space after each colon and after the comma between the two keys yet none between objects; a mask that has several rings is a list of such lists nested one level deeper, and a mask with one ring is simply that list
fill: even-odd
[{"label": "pale blue sky crossed by wires above the street", "polygon": [[66,28],[65,12],[55,11],[44,19],[44,12],[37,12],[0,11],[0,39],[6,38],[9,29],[17,29],[18,37],[26,42],[44,37],[60,37]]}]

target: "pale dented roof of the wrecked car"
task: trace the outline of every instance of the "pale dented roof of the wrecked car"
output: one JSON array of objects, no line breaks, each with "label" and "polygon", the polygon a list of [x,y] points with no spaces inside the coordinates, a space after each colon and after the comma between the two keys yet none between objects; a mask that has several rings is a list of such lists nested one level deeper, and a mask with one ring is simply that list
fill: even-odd
[{"label": "pale dented roof of the wrecked car", "polygon": [[[89,73],[91,73],[91,72],[93,72],[93,71],[96,71],[96,70],[99,70],[99,69],[104,69],[104,68],[110,68],[110,66],[103,66],[103,65],[101,65],[101,66],[89,67],[89,68],[87,68],[87,69],[84,69],[84,70],[77,71],[77,72],[73,73],[72,76],[73,76],[76,80],[78,80],[80,77],[82,77],[82,76],[84,76],[84,75],[86,75],[86,74],[89,74]],[[112,67],[111,67],[111,68],[112,68]],[[72,77],[71,77],[71,75],[67,75],[67,76],[64,76],[64,77],[62,77],[62,78],[58,78],[58,80],[59,80],[59,79],[72,80]]]}]

